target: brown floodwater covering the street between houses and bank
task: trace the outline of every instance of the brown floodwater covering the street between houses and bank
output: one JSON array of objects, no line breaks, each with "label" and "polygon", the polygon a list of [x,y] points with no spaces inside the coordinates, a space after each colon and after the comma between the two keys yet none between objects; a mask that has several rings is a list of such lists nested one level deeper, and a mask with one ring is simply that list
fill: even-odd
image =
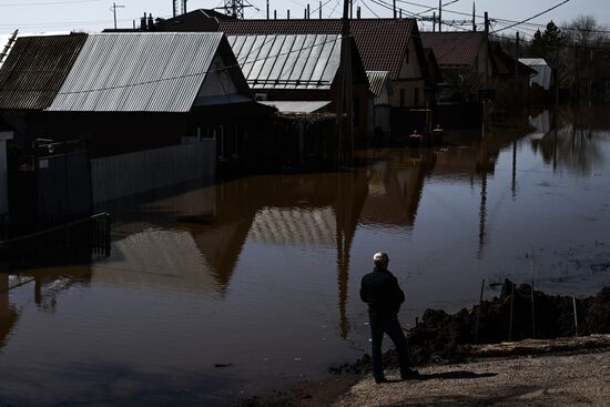
[{"label": "brown floodwater covering the street between houses and bank", "polygon": [[504,278],[596,293],[610,284],[603,118],[565,111],[556,131],[540,112],[443,149],[363,151],[353,171],[118,203],[110,258],[22,285],[0,274],[0,404],[221,406],[322,378],[368,352],[358,288],[378,250],[405,326],[477,303],[484,279],[486,297]]}]

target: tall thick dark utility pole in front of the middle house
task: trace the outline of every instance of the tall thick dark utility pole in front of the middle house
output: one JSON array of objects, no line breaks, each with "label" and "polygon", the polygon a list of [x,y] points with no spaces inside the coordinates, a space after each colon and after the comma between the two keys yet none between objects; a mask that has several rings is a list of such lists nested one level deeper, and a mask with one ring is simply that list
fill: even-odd
[{"label": "tall thick dark utility pole in front of the middle house", "polygon": [[352,109],[352,30],[349,28],[349,2],[343,2],[340,30],[340,77],[337,99],[338,160],[345,164],[354,154],[354,120]]}]

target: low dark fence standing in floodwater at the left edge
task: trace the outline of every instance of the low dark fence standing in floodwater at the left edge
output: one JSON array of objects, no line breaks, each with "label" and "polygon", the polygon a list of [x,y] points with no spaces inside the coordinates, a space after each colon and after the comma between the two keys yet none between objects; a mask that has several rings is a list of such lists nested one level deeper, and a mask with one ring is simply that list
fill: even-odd
[{"label": "low dark fence standing in floodwater at the left edge", "polygon": [[110,214],[0,241],[0,260],[24,265],[89,263],[110,256]]}]

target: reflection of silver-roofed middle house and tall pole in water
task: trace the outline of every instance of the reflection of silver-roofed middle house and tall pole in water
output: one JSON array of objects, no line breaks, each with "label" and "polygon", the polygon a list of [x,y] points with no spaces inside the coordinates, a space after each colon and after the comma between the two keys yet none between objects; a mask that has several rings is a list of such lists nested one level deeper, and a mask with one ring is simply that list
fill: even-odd
[{"label": "reflection of silver-roofed middle house and tall pole in water", "polygon": [[278,246],[322,245],[337,250],[339,330],[347,337],[346,316],[352,242],[368,194],[360,172],[277,179],[282,191],[261,202],[248,240]]}]

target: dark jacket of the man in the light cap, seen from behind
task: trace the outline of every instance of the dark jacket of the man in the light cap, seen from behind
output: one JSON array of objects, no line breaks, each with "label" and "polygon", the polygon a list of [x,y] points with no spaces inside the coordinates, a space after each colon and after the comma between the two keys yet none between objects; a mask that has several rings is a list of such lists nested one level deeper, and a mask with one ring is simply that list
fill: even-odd
[{"label": "dark jacket of the man in the light cap, seen from behind", "polygon": [[393,316],[398,314],[400,304],[405,302],[405,293],[394,274],[375,267],[373,273],[363,277],[360,298],[368,304],[370,316]]}]

